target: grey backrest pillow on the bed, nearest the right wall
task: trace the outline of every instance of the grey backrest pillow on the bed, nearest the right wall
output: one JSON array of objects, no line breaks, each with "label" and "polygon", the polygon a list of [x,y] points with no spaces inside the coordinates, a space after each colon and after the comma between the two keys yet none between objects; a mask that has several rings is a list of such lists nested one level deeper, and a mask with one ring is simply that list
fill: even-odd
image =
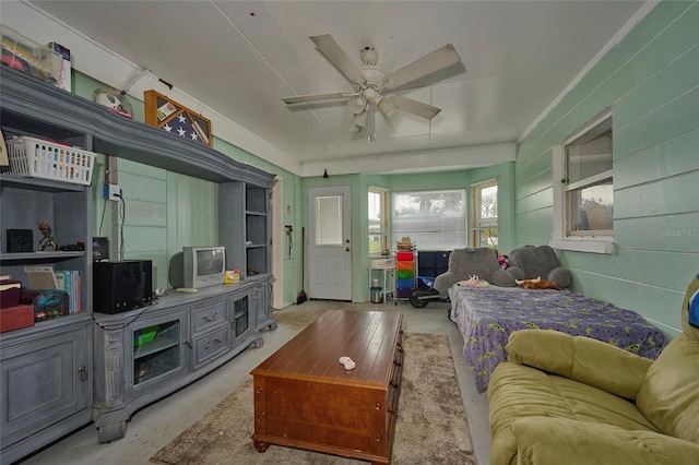
[{"label": "grey backrest pillow on the bed, nearest the right wall", "polygon": [[570,287],[570,271],[560,265],[556,252],[548,246],[523,246],[512,250],[508,255],[507,275],[500,275],[499,286],[514,286],[514,279],[553,281],[560,287]]}]

